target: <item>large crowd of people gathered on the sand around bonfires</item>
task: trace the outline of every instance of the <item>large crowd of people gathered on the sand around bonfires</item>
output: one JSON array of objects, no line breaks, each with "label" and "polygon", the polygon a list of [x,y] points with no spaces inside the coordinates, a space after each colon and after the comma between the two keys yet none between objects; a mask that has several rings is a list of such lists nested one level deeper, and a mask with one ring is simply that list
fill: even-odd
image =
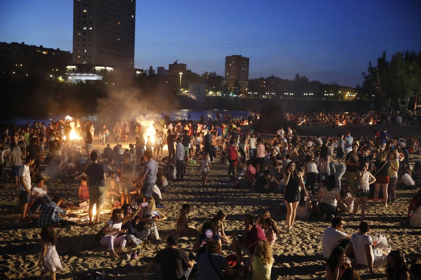
[{"label": "large crowd of people gathered on the sand around bonfires", "polygon": [[[397,116],[375,112],[286,115],[297,124],[303,118],[305,123],[312,124],[322,123],[323,118],[329,119],[325,123],[334,124],[360,120],[362,123],[384,120],[387,124]],[[73,206],[88,205],[88,225],[100,226],[95,238],[101,246],[108,247],[111,258],[136,258],[140,252],[129,252],[126,247],[160,240],[158,227],[167,219],[163,194],[171,188],[170,184],[183,182],[188,176],[186,168],[193,167],[201,174],[198,183],[208,186],[213,165],[218,161],[216,164],[227,166],[227,181],[232,188],[280,194],[283,199],[272,210],[286,213],[284,226],[270,217],[270,211],[264,211],[258,219],[245,213],[244,229],[230,238],[224,230],[227,216],[224,210],[196,228],[189,224],[190,208],[194,206],[182,204],[175,234],[166,240],[167,248],[149,262],[143,272],[145,276],[155,264],[165,264],[163,279],[234,279],[237,274],[269,280],[274,276],[276,263],[272,246],[281,233],[294,231],[298,217],[331,222],[321,244],[329,280],[360,279],[352,265],[368,268],[371,273],[377,273],[375,267],[387,267],[389,279],[420,279],[421,265],[415,264],[417,260],[373,241],[365,222],[368,199],[373,199],[377,208],[381,207],[378,201],[382,199],[382,207],[388,207],[395,203],[397,191],[421,187],[421,162],[417,161],[414,167],[409,164],[409,155],[419,153],[418,139],[389,137],[386,129],[358,138],[346,131],[337,138],[302,139],[290,126],[280,127],[276,136],[264,139],[253,126],[245,125],[256,118],[234,118],[227,114],[212,122],[202,118],[197,123],[192,120],[172,123],[165,118],[154,124],[155,133],[141,123],[121,121],[111,130],[102,125],[96,134],[90,121],[53,120],[47,126],[35,122],[3,134],[0,184],[5,181],[3,172],[8,171],[8,178],[19,189],[17,209],[21,222],[32,222],[42,228],[39,263],[42,275],[45,277],[49,271],[55,279],[56,271],[62,269],[53,227],[72,224],[67,218]],[[110,134],[114,147],[109,141]],[[120,142],[133,139],[133,135],[135,144],[123,149]],[[107,145],[102,152],[94,149],[94,138]],[[10,148],[6,149],[8,144]],[[165,145],[168,156],[164,154]],[[9,162],[10,169],[3,170],[5,162]],[[41,163],[46,166],[44,170],[40,170]],[[46,177],[80,180],[75,191],[77,199],[67,201],[66,205],[59,196],[51,199],[44,185]],[[34,180],[36,186],[32,187]],[[356,219],[360,204],[359,232],[344,233],[344,219]],[[105,224],[101,221],[104,206],[113,208]],[[418,191],[408,208],[411,227],[421,227],[420,206]],[[39,217],[33,219],[32,214],[37,211]],[[189,254],[178,248],[176,237],[186,235],[196,238]],[[231,246],[232,256],[221,256],[223,244]],[[115,247],[120,247],[118,254]]]}]

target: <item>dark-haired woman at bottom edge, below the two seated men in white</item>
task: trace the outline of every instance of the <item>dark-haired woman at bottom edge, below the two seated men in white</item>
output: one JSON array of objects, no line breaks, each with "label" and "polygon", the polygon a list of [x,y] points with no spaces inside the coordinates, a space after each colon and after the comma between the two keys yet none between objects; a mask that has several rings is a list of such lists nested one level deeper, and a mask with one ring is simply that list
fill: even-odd
[{"label": "dark-haired woman at bottom edge, below the two seated men in white", "polygon": [[344,248],[336,246],[325,264],[327,280],[342,280],[345,265],[351,267],[351,261],[346,257]]}]

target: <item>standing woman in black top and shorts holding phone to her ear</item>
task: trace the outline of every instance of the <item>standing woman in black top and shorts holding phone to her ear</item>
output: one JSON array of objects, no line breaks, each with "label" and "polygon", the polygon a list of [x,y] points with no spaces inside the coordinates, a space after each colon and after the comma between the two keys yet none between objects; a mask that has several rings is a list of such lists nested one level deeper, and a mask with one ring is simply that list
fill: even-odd
[{"label": "standing woman in black top and shorts holding phone to her ear", "polygon": [[[301,172],[298,172],[295,162],[289,162],[285,168],[284,174],[284,184],[285,184],[285,193],[284,201],[287,205],[287,232],[289,233],[293,230],[293,224],[295,220],[296,210],[298,202],[300,201],[300,191],[301,189],[306,189],[304,186],[303,176]],[[305,196],[308,196],[307,191],[305,191]]]}]

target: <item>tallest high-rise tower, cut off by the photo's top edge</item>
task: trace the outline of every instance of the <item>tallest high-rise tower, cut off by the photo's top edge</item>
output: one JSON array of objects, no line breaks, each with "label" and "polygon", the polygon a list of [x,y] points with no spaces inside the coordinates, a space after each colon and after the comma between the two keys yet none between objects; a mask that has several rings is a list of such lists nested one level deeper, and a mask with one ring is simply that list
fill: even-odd
[{"label": "tallest high-rise tower, cut off by the photo's top edge", "polygon": [[73,63],[96,73],[133,69],[135,20],[136,0],[73,0]]}]

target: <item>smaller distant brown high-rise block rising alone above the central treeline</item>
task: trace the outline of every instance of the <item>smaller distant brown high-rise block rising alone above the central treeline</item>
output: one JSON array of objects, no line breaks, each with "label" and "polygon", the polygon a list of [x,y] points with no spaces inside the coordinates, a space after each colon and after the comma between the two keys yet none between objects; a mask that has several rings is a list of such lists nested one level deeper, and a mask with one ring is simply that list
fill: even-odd
[{"label": "smaller distant brown high-rise block rising alone above the central treeline", "polygon": [[233,89],[236,85],[240,86],[243,91],[248,89],[248,63],[249,58],[245,56],[231,55],[225,57],[224,77],[229,89]]}]

